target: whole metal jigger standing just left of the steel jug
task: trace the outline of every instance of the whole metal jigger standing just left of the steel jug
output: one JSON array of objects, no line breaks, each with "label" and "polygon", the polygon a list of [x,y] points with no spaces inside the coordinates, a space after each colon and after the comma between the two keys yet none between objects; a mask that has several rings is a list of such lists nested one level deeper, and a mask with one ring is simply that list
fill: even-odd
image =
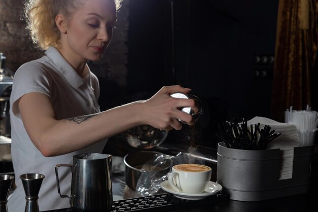
[{"label": "whole metal jigger standing just left of the steel jug", "polygon": [[38,195],[44,177],[43,174],[38,173],[20,175],[26,199],[24,212],[39,212]]}]

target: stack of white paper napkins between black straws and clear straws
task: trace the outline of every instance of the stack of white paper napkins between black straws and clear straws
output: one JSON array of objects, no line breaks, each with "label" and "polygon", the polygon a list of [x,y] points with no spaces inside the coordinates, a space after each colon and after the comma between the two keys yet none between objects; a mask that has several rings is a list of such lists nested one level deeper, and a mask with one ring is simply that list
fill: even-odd
[{"label": "stack of white paper napkins between black straws and clear straws", "polygon": [[280,136],[267,144],[268,149],[280,149],[280,177],[279,179],[290,179],[293,177],[294,147],[299,146],[299,136],[295,125],[279,123],[266,117],[256,116],[247,121],[247,125],[260,123],[260,129],[268,125]]}]

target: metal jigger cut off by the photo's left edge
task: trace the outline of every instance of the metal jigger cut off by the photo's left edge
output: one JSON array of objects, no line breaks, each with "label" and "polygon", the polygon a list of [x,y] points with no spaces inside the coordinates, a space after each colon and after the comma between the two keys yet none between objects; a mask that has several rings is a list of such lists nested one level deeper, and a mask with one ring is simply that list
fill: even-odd
[{"label": "metal jigger cut off by the photo's left edge", "polygon": [[0,175],[0,212],[7,212],[8,194],[14,179],[13,175]]}]

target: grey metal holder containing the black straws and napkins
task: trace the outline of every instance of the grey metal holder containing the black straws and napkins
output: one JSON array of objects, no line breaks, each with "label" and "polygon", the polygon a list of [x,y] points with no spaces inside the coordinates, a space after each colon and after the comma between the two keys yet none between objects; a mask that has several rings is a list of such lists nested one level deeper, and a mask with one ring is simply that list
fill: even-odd
[{"label": "grey metal holder containing the black straws and napkins", "polygon": [[313,146],[294,147],[293,176],[279,179],[280,149],[244,150],[218,143],[217,183],[230,199],[260,201],[307,193]]}]

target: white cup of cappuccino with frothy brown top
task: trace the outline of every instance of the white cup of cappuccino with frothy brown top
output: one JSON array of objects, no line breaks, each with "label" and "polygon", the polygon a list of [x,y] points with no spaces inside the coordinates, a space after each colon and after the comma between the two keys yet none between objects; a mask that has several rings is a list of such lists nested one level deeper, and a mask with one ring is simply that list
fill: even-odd
[{"label": "white cup of cappuccino with frothy brown top", "polygon": [[168,181],[172,188],[183,193],[203,193],[211,179],[210,167],[201,164],[178,164],[172,167]]}]

